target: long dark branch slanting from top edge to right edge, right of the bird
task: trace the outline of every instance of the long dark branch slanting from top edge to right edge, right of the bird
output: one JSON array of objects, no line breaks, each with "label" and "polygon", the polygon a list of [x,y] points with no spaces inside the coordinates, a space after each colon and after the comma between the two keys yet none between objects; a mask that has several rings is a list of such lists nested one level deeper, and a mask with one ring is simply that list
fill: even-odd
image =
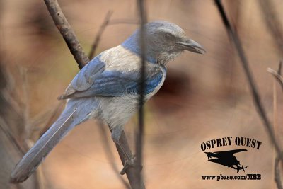
[{"label": "long dark branch slanting from top edge to right edge, right of the bird", "polygon": [[277,141],[275,139],[275,132],[272,129],[272,125],[270,124],[270,121],[268,120],[267,115],[265,113],[265,109],[263,108],[262,103],[260,101],[260,95],[258,93],[257,87],[255,86],[255,81],[253,79],[253,75],[250,72],[248,59],[246,58],[245,52],[243,51],[243,47],[241,45],[240,39],[238,38],[238,34],[233,30],[233,28],[231,28],[231,24],[229,23],[229,20],[226,16],[224,8],[221,4],[221,0],[214,0],[214,1],[215,1],[217,8],[218,8],[220,16],[222,18],[222,21],[223,21],[223,23],[226,27],[226,31],[227,31],[231,41],[235,45],[238,56],[241,59],[241,64],[242,64],[243,70],[245,71],[246,77],[248,79],[248,84],[250,86],[250,91],[251,91],[252,96],[253,96],[255,108],[256,108],[256,110],[258,110],[258,114],[260,115],[260,118],[262,119],[263,125],[267,129],[267,133],[270,137],[270,140],[271,140],[272,144],[275,146],[277,156],[280,159],[283,159],[282,150],[279,147],[279,144],[277,143]]}]

